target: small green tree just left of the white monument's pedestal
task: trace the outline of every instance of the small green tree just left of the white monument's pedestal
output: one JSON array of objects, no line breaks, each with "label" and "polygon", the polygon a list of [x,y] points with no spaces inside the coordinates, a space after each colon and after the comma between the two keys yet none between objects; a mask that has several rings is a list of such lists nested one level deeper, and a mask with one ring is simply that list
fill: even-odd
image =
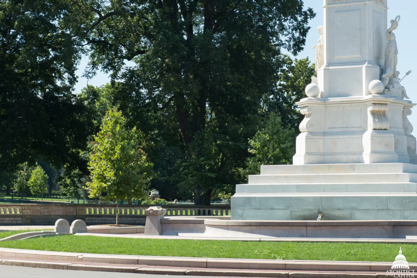
[{"label": "small green tree just left of the white monument's pedestal", "polygon": [[295,154],[296,132],[289,125],[285,128],[281,118],[271,113],[265,127],[249,140],[249,153],[245,172],[259,174],[261,165],[291,164]]}]

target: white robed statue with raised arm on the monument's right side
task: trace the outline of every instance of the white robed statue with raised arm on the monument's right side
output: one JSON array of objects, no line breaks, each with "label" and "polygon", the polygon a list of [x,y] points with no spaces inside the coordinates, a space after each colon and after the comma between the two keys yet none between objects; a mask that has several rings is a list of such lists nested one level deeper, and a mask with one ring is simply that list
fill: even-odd
[{"label": "white robed statue with raised arm on the monument's right side", "polygon": [[397,55],[398,55],[398,48],[397,48],[397,41],[395,40],[395,34],[392,32],[393,30],[398,28],[398,23],[400,20],[400,16],[398,15],[394,20],[391,20],[391,27],[387,30],[387,48],[385,49],[385,63],[384,63],[384,74],[388,73],[388,69],[391,68],[393,74],[391,78],[398,78],[397,72]]}]

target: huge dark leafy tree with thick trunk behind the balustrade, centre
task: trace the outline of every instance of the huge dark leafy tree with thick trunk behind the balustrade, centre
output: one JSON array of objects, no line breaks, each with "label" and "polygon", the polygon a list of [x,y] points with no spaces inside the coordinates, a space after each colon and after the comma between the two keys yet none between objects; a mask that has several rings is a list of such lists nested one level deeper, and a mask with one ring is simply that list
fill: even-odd
[{"label": "huge dark leafy tree with thick trunk behind the balustrade, centre", "polygon": [[149,154],[169,163],[165,180],[191,190],[197,205],[238,183],[281,48],[302,50],[313,11],[301,0],[71,3],[65,28],[90,50],[86,75],[102,66],[121,80],[115,100],[153,136]]}]

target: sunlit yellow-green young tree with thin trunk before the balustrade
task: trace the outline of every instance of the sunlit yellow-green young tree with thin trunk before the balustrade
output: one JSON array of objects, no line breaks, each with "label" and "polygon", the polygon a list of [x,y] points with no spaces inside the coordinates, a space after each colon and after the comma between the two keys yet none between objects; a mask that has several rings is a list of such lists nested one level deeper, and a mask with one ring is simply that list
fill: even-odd
[{"label": "sunlit yellow-green young tree with thin trunk before the balustrade", "polygon": [[136,127],[126,128],[126,119],[115,107],[107,111],[100,132],[94,136],[88,163],[92,181],[85,186],[91,197],[116,200],[116,225],[119,201],[145,197],[153,176],[153,164],[141,149],[143,138]]}]

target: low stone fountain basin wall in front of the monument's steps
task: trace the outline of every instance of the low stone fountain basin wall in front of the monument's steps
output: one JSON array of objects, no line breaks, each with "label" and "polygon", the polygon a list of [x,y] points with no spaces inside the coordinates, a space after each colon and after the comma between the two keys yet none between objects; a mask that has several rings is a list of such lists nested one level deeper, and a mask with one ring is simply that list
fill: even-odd
[{"label": "low stone fountain basin wall in front of the monument's steps", "polygon": [[417,239],[415,220],[251,221],[161,219],[162,235],[213,238],[395,238]]}]

